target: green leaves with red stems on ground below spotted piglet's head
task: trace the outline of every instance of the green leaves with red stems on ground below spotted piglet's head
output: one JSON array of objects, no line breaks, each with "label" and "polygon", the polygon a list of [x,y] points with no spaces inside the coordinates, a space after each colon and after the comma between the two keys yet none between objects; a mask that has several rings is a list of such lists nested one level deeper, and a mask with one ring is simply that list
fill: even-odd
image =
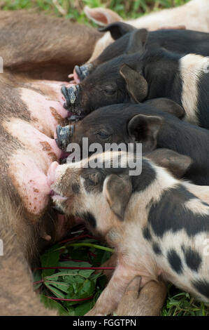
[{"label": "green leaves with red stems on ground below spotted piglet's head", "polygon": [[[106,277],[101,272],[78,268],[100,265],[110,258],[112,249],[99,245],[96,239],[82,239],[76,243],[66,245],[63,249],[59,244],[52,246],[41,256],[41,266],[55,269],[34,272],[34,282],[41,281],[34,286],[34,289],[41,290],[41,301],[47,307],[56,308],[60,315],[85,315],[94,306],[96,298],[106,285]],[[75,260],[59,261],[59,258],[69,256]],[[54,301],[49,297],[59,298],[61,301]]]}]

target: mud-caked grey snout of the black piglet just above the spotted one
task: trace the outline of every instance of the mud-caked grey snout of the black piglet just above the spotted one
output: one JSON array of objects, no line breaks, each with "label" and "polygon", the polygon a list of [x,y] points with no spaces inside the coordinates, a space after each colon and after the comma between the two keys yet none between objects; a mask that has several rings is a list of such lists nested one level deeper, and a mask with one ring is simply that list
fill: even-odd
[{"label": "mud-caked grey snout of the black piglet just above the spotted one", "polygon": [[67,146],[71,142],[73,136],[74,125],[60,126],[57,125],[55,141],[59,149],[66,151]]}]

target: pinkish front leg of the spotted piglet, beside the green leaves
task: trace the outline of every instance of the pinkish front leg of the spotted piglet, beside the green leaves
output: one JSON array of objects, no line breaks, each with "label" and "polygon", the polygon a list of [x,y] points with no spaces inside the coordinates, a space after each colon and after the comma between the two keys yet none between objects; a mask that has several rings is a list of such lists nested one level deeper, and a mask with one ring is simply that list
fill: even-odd
[{"label": "pinkish front leg of the spotted piglet, beside the green leaves", "polygon": [[108,286],[103,290],[94,308],[86,316],[109,315],[113,312],[122,298],[129,282],[134,278],[133,272],[118,265]]}]

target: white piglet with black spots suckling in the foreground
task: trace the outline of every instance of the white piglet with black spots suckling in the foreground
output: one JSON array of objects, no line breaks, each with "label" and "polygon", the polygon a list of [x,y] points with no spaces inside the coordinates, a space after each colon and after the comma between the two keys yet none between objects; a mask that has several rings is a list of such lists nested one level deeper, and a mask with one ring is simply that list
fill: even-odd
[{"label": "white piglet with black spots suckling in the foreground", "polygon": [[131,175],[132,157],[105,152],[54,162],[48,172],[57,205],[84,219],[117,253],[113,277],[87,315],[113,312],[137,275],[141,288],[161,278],[209,303],[209,204],[150,159]]}]

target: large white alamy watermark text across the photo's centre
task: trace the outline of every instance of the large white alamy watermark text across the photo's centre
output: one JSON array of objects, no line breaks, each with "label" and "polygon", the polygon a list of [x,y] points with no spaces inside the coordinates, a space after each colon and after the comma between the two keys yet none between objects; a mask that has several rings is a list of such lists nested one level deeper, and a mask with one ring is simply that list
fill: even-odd
[{"label": "large white alamy watermark text across the photo's centre", "polygon": [[[82,138],[82,152],[78,143],[70,143],[66,149],[71,154],[66,162],[79,162],[81,159],[88,159],[80,163],[83,168],[105,168],[118,169],[129,168],[129,176],[139,176],[142,171],[142,144],[141,143],[92,143],[89,145],[88,138]],[[114,154],[114,152],[117,152]],[[120,153],[121,152],[121,153]],[[89,157],[89,154],[92,156]],[[100,157],[96,157],[101,154]]]}]

